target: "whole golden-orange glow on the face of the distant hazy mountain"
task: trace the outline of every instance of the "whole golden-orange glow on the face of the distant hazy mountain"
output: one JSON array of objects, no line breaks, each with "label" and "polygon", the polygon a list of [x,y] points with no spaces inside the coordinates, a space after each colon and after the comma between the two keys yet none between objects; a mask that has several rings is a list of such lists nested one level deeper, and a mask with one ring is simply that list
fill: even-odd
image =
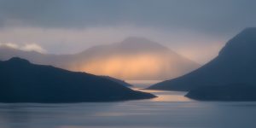
[{"label": "whole golden-orange glow on the face of the distant hazy mountain", "polygon": [[111,55],[92,57],[79,63],[74,64],[71,70],[125,80],[172,79],[189,72],[183,68],[185,61],[168,54]]}]

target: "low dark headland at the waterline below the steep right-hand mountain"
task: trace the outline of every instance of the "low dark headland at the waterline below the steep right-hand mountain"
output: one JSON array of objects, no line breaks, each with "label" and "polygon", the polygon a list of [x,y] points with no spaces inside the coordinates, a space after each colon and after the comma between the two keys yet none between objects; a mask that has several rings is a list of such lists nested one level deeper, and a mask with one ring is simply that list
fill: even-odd
[{"label": "low dark headland at the waterline below the steep right-hand mountain", "polygon": [[256,101],[256,87],[247,84],[203,86],[190,90],[186,96],[201,101]]}]

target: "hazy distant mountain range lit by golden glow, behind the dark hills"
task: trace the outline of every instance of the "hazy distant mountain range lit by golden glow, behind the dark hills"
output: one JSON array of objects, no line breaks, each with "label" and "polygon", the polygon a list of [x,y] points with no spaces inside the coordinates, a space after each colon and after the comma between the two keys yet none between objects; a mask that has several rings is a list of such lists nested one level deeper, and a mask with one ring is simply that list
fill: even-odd
[{"label": "hazy distant mountain range lit by golden glow, behind the dark hills", "polygon": [[74,55],[42,55],[12,50],[0,49],[0,59],[18,56],[38,64],[127,80],[172,79],[200,67],[146,38],[126,38],[120,43],[98,45]]}]

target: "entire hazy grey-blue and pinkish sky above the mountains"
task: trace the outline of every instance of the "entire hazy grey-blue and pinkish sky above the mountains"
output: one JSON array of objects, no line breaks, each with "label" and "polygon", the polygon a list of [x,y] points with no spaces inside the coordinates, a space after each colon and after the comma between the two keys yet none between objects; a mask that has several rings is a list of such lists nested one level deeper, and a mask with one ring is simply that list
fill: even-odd
[{"label": "entire hazy grey-blue and pinkish sky above the mountains", "polygon": [[255,5],[254,0],[0,0],[0,45],[61,54],[137,36],[204,63],[237,32],[256,26]]}]

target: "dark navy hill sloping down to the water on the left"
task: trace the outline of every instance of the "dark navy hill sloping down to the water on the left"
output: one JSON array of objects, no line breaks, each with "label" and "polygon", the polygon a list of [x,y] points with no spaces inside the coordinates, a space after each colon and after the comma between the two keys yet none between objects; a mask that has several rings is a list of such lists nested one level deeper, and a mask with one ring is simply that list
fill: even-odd
[{"label": "dark navy hill sloping down to the water on the left", "polygon": [[109,79],[20,58],[0,61],[0,102],[111,102],[155,96]]}]

